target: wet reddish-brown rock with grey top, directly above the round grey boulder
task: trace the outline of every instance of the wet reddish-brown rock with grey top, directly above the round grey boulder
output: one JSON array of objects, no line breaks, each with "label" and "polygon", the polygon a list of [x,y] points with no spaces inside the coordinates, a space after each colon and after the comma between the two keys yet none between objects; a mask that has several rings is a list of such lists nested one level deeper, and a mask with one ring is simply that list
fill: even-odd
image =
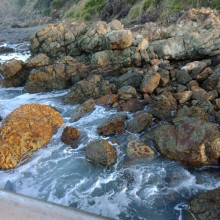
[{"label": "wet reddish-brown rock with grey top, directly above the round grey boulder", "polygon": [[122,135],[125,132],[126,114],[116,114],[106,119],[98,126],[97,131],[101,135]]}]

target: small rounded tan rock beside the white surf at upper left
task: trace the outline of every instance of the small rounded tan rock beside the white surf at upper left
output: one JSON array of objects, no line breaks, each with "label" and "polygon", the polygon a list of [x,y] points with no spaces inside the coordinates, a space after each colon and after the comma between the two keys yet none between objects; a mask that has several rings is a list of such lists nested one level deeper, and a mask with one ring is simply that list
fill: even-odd
[{"label": "small rounded tan rock beside the white surf at upper left", "polygon": [[46,54],[40,53],[32,58],[29,58],[25,62],[25,67],[26,68],[35,68],[35,67],[49,65],[49,63],[50,63],[50,58]]}]

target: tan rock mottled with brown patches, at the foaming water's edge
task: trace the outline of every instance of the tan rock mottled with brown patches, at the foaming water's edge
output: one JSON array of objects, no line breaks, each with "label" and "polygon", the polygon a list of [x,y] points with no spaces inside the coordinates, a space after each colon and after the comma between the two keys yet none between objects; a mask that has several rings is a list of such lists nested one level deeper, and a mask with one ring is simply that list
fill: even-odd
[{"label": "tan rock mottled with brown patches, at the foaming water's edge", "polygon": [[147,158],[153,159],[156,157],[155,152],[145,143],[139,141],[131,141],[127,146],[127,156],[130,159]]}]

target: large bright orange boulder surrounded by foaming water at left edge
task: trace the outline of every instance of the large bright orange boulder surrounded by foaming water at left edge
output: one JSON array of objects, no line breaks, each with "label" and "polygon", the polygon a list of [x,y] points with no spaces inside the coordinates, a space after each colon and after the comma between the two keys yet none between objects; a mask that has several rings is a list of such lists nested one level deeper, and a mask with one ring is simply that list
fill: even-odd
[{"label": "large bright orange boulder surrounded by foaming water at left edge", "polygon": [[63,123],[60,113],[46,105],[14,110],[0,128],[0,169],[12,169],[23,156],[46,146]]}]

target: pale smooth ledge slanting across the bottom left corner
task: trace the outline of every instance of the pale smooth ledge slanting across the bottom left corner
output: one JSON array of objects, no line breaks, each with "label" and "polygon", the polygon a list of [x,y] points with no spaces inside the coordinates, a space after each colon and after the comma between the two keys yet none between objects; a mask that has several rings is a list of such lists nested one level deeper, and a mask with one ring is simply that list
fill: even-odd
[{"label": "pale smooth ledge slanting across the bottom left corner", "polygon": [[107,220],[109,218],[0,190],[0,219]]}]

